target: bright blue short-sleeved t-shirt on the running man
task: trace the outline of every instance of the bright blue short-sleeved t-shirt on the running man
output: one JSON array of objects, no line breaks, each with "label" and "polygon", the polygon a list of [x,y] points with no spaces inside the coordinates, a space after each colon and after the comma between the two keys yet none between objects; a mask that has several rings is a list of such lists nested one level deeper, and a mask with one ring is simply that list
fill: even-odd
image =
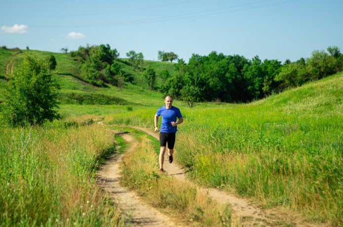
[{"label": "bright blue short-sleeved t-shirt on the running man", "polygon": [[163,106],[158,108],[156,115],[162,115],[162,125],[159,129],[160,132],[173,133],[177,131],[178,126],[173,127],[170,122],[176,122],[176,117],[182,117],[179,108],[172,106],[170,109],[166,109],[165,106]]}]

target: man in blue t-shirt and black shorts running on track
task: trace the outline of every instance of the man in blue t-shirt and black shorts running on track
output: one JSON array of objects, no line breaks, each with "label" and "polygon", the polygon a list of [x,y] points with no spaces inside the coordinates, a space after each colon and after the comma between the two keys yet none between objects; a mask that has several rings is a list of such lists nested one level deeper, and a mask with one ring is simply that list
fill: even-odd
[{"label": "man in blue t-shirt and black shorts running on track", "polygon": [[[173,153],[174,153],[174,144],[175,144],[175,134],[177,131],[177,125],[181,124],[184,119],[182,118],[181,112],[178,108],[173,107],[173,97],[167,95],[164,98],[165,106],[158,108],[155,117],[155,132],[158,132],[157,122],[158,116],[162,115],[162,125],[160,127],[159,133],[159,171],[163,172],[163,163],[164,163],[164,153],[166,144],[168,144],[168,162],[173,162]],[[176,117],[179,118],[179,121],[176,121]]]}]

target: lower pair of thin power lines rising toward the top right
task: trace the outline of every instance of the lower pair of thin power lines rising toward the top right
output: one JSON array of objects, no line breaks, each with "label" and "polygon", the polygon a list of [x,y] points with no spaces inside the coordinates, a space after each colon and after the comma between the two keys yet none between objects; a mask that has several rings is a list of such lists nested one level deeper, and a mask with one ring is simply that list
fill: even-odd
[{"label": "lower pair of thin power lines rising toward the top right", "polygon": [[[206,12],[211,12],[211,11],[218,11],[218,10],[223,10],[223,9],[228,9],[228,8],[240,7],[240,6],[243,6],[243,5],[257,4],[257,3],[266,2],[266,1],[270,1],[270,0],[263,0],[263,1],[247,3],[247,4],[241,4],[241,5],[235,5],[235,6],[230,6],[230,7],[224,7],[224,8],[219,8],[219,9],[205,10],[205,11],[200,11],[200,12],[194,12],[194,13],[188,13],[188,14],[180,14],[180,15],[174,15],[174,16],[168,16],[168,17],[145,19],[145,20],[115,22],[115,23],[107,23],[107,24],[86,24],[86,25],[69,25],[69,26],[65,26],[65,25],[61,25],[61,26],[29,26],[29,27],[32,27],[32,28],[75,28],[75,27],[78,27],[78,28],[90,28],[90,27],[112,27],[112,26],[120,26],[120,25],[148,24],[148,23],[166,22],[166,21],[174,21],[174,20],[181,20],[181,19],[190,19],[190,18],[197,18],[197,17],[225,14],[225,13],[230,13],[230,12],[245,11],[245,10],[250,10],[250,9],[263,8],[263,7],[272,6],[272,5],[279,5],[279,4],[299,1],[299,0],[287,0],[287,1],[277,2],[277,3],[267,4],[267,5],[259,5],[259,6],[242,8],[242,9],[236,9],[236,10],[230,10],[230,11],[224,11],[224,12],[200,14],[200,13],[206,13]],[[200,14],[200,15],[190,16],[191,14]],[[173,17],[175,17],[175,18],[173,18]],[[171,18],[171,19],[168,19],[168,18]]]}]

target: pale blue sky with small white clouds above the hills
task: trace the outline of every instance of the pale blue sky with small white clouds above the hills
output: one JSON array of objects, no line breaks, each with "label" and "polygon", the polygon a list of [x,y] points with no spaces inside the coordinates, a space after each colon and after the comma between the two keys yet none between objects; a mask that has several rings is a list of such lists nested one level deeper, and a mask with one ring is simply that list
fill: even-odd
[{"label": "pale blue sky with small white clouds above the hills", "polygon": [[110,44],[146,60],[173,51],[296,61],[343,52],[343,0],[1,0],[0,46],[61,52]]}]

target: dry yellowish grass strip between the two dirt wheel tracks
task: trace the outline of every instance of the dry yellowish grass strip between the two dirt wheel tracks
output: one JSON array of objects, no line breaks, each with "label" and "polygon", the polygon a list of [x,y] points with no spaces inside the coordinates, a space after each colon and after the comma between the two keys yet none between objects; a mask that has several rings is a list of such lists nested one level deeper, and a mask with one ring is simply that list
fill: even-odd
[{"label": "dry yellowish grass strip between the two dirt wheel tracks", "polygon": [[[230,226],[230,207],[213,201],[206,193],[173,177],[158,174],[159,144],[147,135],[124,155],[121,183],[136,190],[154,207],[190,226]],[[132,146],[132,145],[131,145]],[[137,159],[137,157],[140,157]]]}]

